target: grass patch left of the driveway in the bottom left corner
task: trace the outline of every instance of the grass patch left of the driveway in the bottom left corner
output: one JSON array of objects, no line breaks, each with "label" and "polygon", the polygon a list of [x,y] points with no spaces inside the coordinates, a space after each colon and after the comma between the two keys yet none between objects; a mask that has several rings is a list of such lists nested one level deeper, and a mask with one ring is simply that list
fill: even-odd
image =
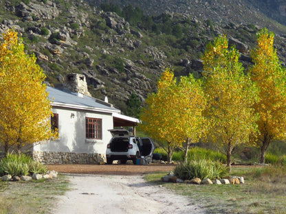
[{"label": "grass patch left of the driveway in the bottom left corner", "polygon": [[52,180],[0,182],[0,214],[52,213],[56,195],[68,190],[64,176]]}]

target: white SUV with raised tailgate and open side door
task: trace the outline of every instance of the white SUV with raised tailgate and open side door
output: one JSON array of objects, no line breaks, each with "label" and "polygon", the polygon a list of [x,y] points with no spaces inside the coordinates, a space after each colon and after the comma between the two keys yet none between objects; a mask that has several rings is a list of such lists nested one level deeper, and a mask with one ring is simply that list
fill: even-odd
[{"label": "white SUV with raised tailgate and open side door", "polygon": [[131,136],[127,130],[122,128],[109,130],[109,132],[113,137],[107,145],[107,164],[112,164],[113,160],[120,160],[120,163],[132,160],[135,164],[140,156],[152,158],[154,145],[150,138]]}]

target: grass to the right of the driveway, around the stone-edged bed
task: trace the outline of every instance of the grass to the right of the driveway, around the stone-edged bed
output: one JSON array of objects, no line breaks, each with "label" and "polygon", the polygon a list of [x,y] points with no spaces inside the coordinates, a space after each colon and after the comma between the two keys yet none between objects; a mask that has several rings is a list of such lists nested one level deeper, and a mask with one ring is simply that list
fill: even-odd
[{"label": "grass to the right of the driveway, around the stone-edged bed", "polygon": [[148,174],[146,180],[188,196],[190,204],[207,213],[286,213],[285,167],[232,167],[231,175],[244,176],[243,185],[187,185],[164,183],[166,174]]}]

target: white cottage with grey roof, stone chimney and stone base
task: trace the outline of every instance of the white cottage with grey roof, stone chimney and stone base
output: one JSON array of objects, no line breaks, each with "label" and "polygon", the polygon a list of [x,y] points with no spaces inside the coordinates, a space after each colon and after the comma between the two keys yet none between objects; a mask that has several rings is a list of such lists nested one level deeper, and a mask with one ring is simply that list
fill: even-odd
[{"label": "white cottage with grey roof, stone chimney and stone base", "polygon": [[[67,81],[72,80],[72,87]],[[105,160],[108,131],[114,127],[135,126],[138,119],[120,114],[107,102],[91,97],[87,91],[85,75],[67,76],[65,88],[73,92],[47,87],[52,99],[52,128],[58,128],[59,139],[35,143],[35,160],[47,164],[100,163]],[[85,93],[85,94],[83,94]]]}]

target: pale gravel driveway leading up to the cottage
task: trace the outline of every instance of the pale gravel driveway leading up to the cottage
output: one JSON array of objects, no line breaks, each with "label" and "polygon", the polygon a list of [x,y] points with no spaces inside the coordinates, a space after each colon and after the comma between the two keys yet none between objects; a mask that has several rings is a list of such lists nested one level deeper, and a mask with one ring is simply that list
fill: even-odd
[{"label": "pale gravel driveway leading up to the cottage", "polygon": [[58,196],[54,213],[204,213],[188,198],[144,181],[142,175],[67,174],[71,191]]}]

